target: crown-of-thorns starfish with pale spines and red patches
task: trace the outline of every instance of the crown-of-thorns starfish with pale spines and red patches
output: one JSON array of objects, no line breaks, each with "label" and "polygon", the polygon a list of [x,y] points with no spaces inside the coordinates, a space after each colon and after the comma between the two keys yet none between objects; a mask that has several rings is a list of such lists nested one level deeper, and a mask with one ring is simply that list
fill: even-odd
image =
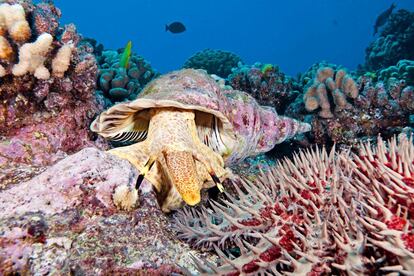
[{"label": "crown-of-thorns starfish with pale spines and red patches", "polygon": [[405,135],[358,153],[302,151],[211,207],[179,211],[175,226],[221,258],[218,266],[196,258],[202,273],[411,273],[413,164]]}]

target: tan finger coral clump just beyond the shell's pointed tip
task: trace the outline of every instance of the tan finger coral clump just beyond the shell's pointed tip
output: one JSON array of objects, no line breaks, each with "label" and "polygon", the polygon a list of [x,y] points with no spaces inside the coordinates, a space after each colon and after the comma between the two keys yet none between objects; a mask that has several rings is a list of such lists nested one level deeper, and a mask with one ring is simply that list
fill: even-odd
[{"label": "tan finger coral clump just beyond the shell's pointed tip", "polygon": [[318,69],[313,84],[310,85],[304,94],[305,108],[314,111],[321,108],[319,116],[322,118],[332,118],[331,103],[328,97],[331,93],[335,109],[342,110],[350,108],[348,98],[355,99],[358,96],[358,88],[355,81],[344,71],[335,72],[330,67]]}]

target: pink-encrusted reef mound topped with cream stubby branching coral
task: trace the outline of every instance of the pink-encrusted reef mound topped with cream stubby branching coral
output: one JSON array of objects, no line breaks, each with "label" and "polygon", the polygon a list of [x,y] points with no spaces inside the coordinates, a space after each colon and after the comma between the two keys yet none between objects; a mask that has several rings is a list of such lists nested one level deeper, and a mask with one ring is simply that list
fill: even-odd
[{"label": "pink-encrusted reef mound topped with cream stubby branching coral", "polygon": [[75,26],[60,27],[51,3],[8,2],[0,5],[0,187],[66,153],[106,144],[88,131],[102,105],[95,57],[78,47]]}]

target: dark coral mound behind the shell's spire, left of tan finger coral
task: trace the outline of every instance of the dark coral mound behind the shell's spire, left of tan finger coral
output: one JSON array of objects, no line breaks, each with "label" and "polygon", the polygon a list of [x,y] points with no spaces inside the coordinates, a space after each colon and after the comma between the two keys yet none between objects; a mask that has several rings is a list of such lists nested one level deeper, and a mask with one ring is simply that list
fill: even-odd
[{"label": "dark coral mound behind the shell's spire, left of tan finger coral", "polygon": [[293,78],[271,64],[256,63],[249,66],[239,63],[227,80],[234,89],[249,93],[261,105],[272,106],[280,114],[285,112],[301,90]]}]

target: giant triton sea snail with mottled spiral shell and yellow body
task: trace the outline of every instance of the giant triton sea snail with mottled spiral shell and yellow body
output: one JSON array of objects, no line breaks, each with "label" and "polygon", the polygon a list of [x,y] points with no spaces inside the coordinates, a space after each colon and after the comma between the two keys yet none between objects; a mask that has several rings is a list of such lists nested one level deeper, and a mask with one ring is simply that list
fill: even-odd
[{"label": "giant triton sea snail with mottled spiral shell and yellow body", "polygon": [[183,200],[197,204],[202,188],[222,189],[225,166],[266,152],[310,125],[259,106],[245,92],[220,89],[204,71],[185,69],[103,112],[91,129],[107,139],[137,142],[109,152],[138,168],[137,186],[144,177],[150,181],[168,212]]}]

